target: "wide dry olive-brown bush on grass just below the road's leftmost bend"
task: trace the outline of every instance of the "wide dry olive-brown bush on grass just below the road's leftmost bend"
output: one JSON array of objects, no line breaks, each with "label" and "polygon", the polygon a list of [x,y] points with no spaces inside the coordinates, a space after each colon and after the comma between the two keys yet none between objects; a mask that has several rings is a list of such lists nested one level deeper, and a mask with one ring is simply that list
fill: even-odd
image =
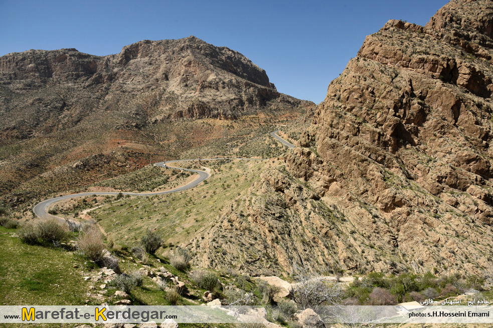
[{"label": "wide dry olive-brown bush on grass just below the road's leftmost bend", "polygon": [[55,246],[68,238],[68,227],[56,218],[41,218],[22,225],[19,237],[30,244],[52,243]]}]

